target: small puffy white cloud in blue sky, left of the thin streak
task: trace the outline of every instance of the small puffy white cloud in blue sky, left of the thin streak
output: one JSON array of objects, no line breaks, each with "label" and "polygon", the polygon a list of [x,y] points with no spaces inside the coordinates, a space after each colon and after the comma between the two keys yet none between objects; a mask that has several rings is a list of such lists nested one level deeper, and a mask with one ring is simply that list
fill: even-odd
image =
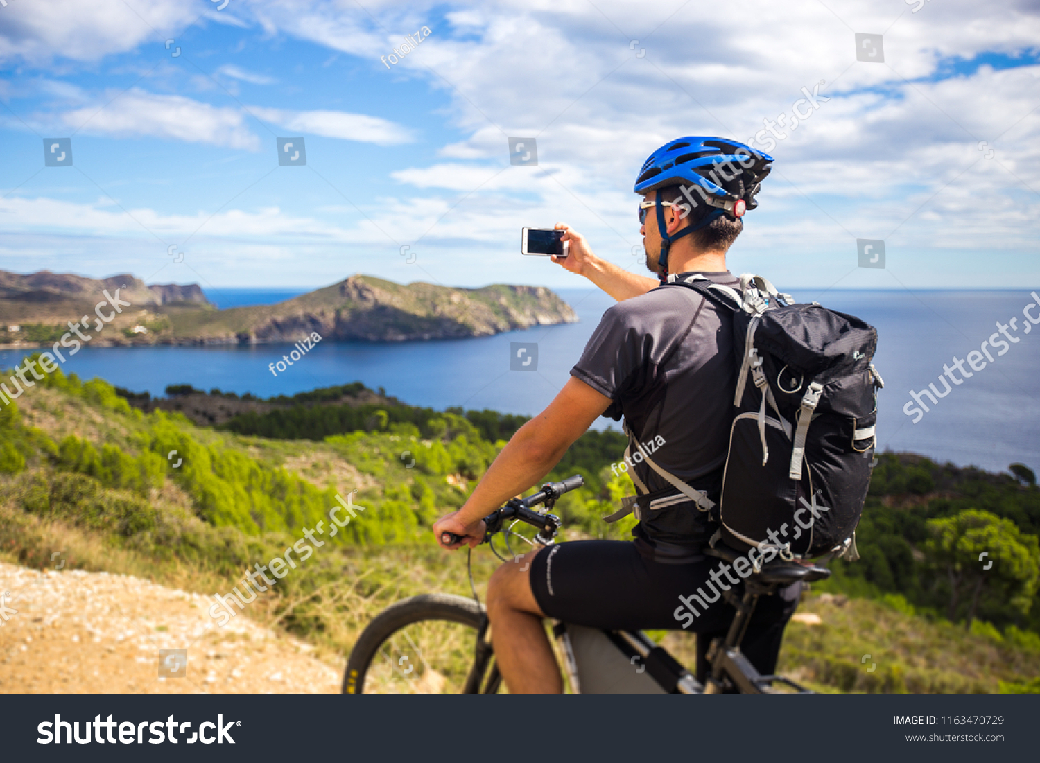
[{"label": "small puffy white cloud in blue sky, left of the thin streak", "polygon": [[[116,94],[112,94],[116,95]],[[133,88],[107,105],[68,111],[64,124],[85,133],[113,137],[160,137],[257,151],[260,140],[245,127],[238,109],[216,108],[183,96]]]}]

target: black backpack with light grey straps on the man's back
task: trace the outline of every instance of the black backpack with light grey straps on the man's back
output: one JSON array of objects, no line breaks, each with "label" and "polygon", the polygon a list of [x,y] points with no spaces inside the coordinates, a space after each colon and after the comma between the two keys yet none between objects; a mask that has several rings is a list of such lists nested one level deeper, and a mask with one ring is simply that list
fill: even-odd
[{"label": "black backpack with light grey straps on the man's back", "polygon": [[[758,275],[742,275],[739,293],[703,275],[669,283],[732,313],[739,371],[722,497],[710,509],[717,535],[765,560],[855,558],[884,386],[872,363],[877,331],[818,302],[796,305]],[[706,499],[644,456],[680,492]]]}]

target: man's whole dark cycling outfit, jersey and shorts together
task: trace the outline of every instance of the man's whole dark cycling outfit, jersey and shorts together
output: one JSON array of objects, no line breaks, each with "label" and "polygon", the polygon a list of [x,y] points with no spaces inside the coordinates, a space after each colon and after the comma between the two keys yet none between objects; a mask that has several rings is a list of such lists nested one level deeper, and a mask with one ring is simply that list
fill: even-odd
[{"label": "man's whole dark cycling outfit, jersey and shorts together", "polygon": [[[739,288],[729,271],[702,274]],[[604,415],[624,416],[662,469],[718,501],[734,365],[728,316],[692,289],[662,286],[607,310],[571,374],[613,400]],[[531,591],[547,616],[567,623],[606,630],[685,626],[699,634],[703,672],[706,644],[724,634],[734,613],[710,587],[720,560],[701,553],[717,524],[645,463],[625,466],[650,491],[640,499],[635,542],[572,541],[543,549],[531,562]],[[693,601],[702,590],[716,599],[691,622],[680,597]],[[742,651],[763,675],[774,672],[800,591],[796,583],[762,597],[755,608]]]}]

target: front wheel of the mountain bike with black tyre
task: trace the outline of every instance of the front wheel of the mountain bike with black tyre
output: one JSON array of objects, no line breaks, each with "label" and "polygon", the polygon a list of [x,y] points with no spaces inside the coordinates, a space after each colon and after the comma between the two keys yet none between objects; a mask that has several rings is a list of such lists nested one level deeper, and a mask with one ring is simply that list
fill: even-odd
[{"label": "front wheel of the mountain bike with black tyre", "polygon": [[[423,594],[381,612],[361,633],[343,676],[346,694],[458,694],[483,683],[477,657],[484,608],[472,599]],[[482,644],[483,647],[484,644]],[[482,649],[482,651],[484,651]],[[479,664],[477,664],[479,663]],[[486,691],[498,688],[492,667]]]}]

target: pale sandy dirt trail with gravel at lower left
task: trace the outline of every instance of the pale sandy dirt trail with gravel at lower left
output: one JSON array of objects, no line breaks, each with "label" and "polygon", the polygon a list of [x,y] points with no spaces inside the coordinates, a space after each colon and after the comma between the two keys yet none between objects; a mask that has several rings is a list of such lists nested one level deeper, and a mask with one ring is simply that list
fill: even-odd
[{"label": "pale sandy dirt trail with gravel at lower left", "polygon": [[[217,628],[210,604],[125,575],[0,563],[0,692],[339,691],[342,664],[244,614]],[[187,649],[183,678],[159,676],[173,649]]]}]

